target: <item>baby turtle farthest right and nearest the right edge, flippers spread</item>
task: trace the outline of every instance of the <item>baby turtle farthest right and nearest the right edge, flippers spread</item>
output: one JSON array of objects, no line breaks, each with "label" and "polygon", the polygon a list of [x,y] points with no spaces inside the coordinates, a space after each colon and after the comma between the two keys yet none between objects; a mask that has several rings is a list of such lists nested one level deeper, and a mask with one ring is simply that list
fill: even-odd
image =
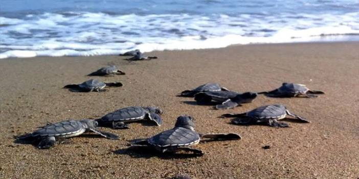
[{"label": "baby turtle farthest right and nearest the right edge, flippers spread", "polygon": [[323,91],[310,90],[303,84],[297,83],[283,83],[281,87],[273,91],[259,92],[258,94],[265,94],[268,97],[318,97],[315,94],[324,94]]}]

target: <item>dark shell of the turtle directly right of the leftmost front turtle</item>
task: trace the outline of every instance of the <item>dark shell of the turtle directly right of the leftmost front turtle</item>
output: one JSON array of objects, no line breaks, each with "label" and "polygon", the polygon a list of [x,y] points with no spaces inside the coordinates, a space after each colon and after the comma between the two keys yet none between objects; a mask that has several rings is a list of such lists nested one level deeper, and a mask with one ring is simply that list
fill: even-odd
[{"label": "dark shell of the turtle directly right of the leftmost front turtle", "polygon": [[139,106],[122,108],[117,111],[104,115],[102,121],[122,121],[122,120],[138,120],[143,119],[148,113],[145,109]]}]

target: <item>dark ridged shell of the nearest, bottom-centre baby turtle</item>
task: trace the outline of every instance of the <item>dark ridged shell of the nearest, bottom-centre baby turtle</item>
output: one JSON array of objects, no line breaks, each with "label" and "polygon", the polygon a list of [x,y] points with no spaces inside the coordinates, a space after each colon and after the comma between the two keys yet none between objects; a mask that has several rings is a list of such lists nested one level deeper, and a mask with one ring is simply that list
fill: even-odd
[{"label": "dark ridged shell of the nearest, bottom-centre baby turtle", "polygon": [[195,131],[184,127],[175,127],[149,138],[148,143],[155,146],[188,146],[199,141]]}]

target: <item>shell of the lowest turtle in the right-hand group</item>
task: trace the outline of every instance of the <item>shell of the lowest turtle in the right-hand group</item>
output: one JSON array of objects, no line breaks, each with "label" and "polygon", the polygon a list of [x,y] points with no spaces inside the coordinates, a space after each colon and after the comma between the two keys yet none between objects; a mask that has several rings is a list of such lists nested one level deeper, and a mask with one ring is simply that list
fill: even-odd
[{"label": "shell of the lowest turtle in the right-hand group", "polygon": [[279,116],[286,115],[286,108],[283,105],[268,105],[261,106],[246,113],[247,116],[253,118],[278,118]]}]

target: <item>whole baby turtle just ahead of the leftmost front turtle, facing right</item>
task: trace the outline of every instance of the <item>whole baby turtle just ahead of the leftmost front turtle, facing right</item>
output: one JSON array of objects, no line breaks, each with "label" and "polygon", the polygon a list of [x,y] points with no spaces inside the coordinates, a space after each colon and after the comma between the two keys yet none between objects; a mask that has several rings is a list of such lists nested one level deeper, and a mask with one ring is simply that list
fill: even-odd
[{"label": "whole baby turtle just ahead of the leftmost front turtle, facing right", "polygon": [[108,113],[96,120],[100,126],[109,126],[113,129],[128,129],[125,123],[144,119],[151,120],[160,126],[163,121],[159,114],[162,114],[162,110],[156,107],[131,106]]}]

